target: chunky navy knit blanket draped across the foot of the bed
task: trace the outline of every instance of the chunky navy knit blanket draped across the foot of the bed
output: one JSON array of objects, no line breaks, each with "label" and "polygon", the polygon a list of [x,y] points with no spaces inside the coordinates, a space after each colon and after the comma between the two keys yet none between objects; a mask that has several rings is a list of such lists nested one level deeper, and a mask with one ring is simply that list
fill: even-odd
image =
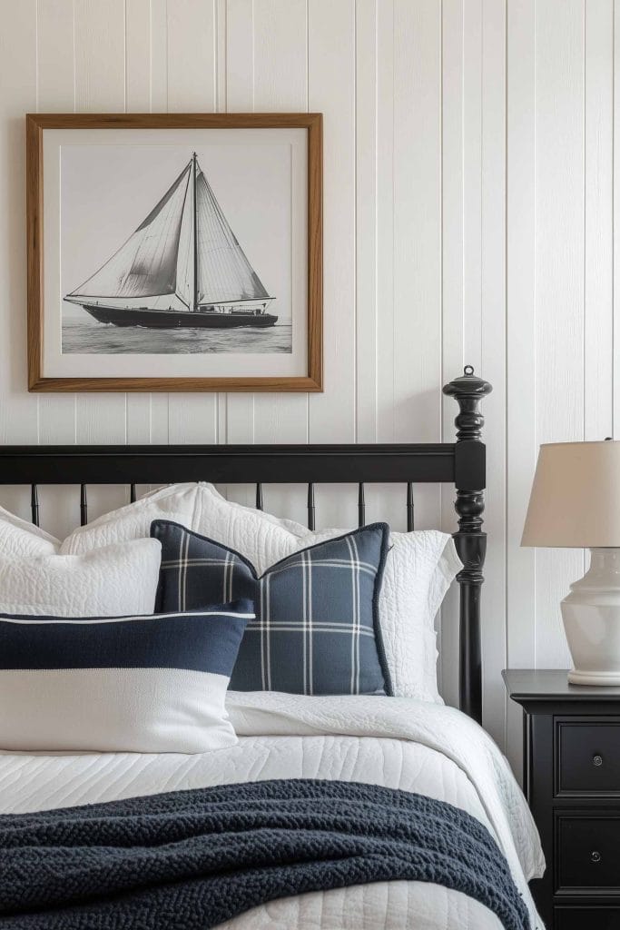
[{"label": "chunky navy knit blanket draped across the foot of the bed", "polygon": [[0,817],[3,930],[206,930],[274,898],[398,879],[529,930],[488,830],[406,791],[285,779]]}]

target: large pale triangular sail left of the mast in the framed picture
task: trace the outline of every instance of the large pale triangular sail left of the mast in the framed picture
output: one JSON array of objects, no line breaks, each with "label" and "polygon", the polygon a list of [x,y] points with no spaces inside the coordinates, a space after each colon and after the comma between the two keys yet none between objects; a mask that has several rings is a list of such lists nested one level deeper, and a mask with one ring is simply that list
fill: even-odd
[{"label": "large pale triangular sail left of the mast in the framed picture", "polygon": [[178,176],[125,245],[76,287],[70,297],[140,298],[174,294],[178,281],[181,220],[191,163]]}]

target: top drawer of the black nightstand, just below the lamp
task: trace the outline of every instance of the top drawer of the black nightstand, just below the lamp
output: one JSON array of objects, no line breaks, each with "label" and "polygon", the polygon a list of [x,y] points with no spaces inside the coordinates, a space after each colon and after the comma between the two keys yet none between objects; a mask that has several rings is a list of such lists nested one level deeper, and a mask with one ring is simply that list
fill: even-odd
[{"label": "top drawer of the black nightstand, just below the lamp", "polygon": [[558,794],[620,794],[620,720],[556,721]]}]

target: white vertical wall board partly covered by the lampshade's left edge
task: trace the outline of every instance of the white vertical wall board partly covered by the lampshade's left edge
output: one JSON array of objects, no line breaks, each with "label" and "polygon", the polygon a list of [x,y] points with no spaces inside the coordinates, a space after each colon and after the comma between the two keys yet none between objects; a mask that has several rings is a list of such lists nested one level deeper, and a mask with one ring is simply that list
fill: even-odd
[{"label": "white vertical wall board partly covered by the lampshade's left edge", "polygon": [[[509,0],[507,20],[508,665],[533,668],[535,557],[534,550],[521,549],[521,530],[537,452],[534,0]],[[491,456],[493,449],[489,451]],[[489,502],[493,504],[491,498]],[[510,703],[508,751],[515,771],[521,771],[521,718],[521,709]]]}]

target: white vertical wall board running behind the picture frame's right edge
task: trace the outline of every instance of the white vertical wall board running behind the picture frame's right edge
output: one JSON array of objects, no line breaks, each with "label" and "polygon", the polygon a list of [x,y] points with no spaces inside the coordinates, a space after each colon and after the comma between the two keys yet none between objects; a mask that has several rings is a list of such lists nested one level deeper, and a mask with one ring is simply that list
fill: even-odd
[{"label": "white vertical wall board running behind the picture frame's right edge", "polygon": [[[323,394],[310,396],[310,442],[355,439],[355,4],[311,0],[309,108],[323,111]],[[337,397],[337,404],[334,403]],[[355,525],[356,494],[317,489],[317,525]]]}]

